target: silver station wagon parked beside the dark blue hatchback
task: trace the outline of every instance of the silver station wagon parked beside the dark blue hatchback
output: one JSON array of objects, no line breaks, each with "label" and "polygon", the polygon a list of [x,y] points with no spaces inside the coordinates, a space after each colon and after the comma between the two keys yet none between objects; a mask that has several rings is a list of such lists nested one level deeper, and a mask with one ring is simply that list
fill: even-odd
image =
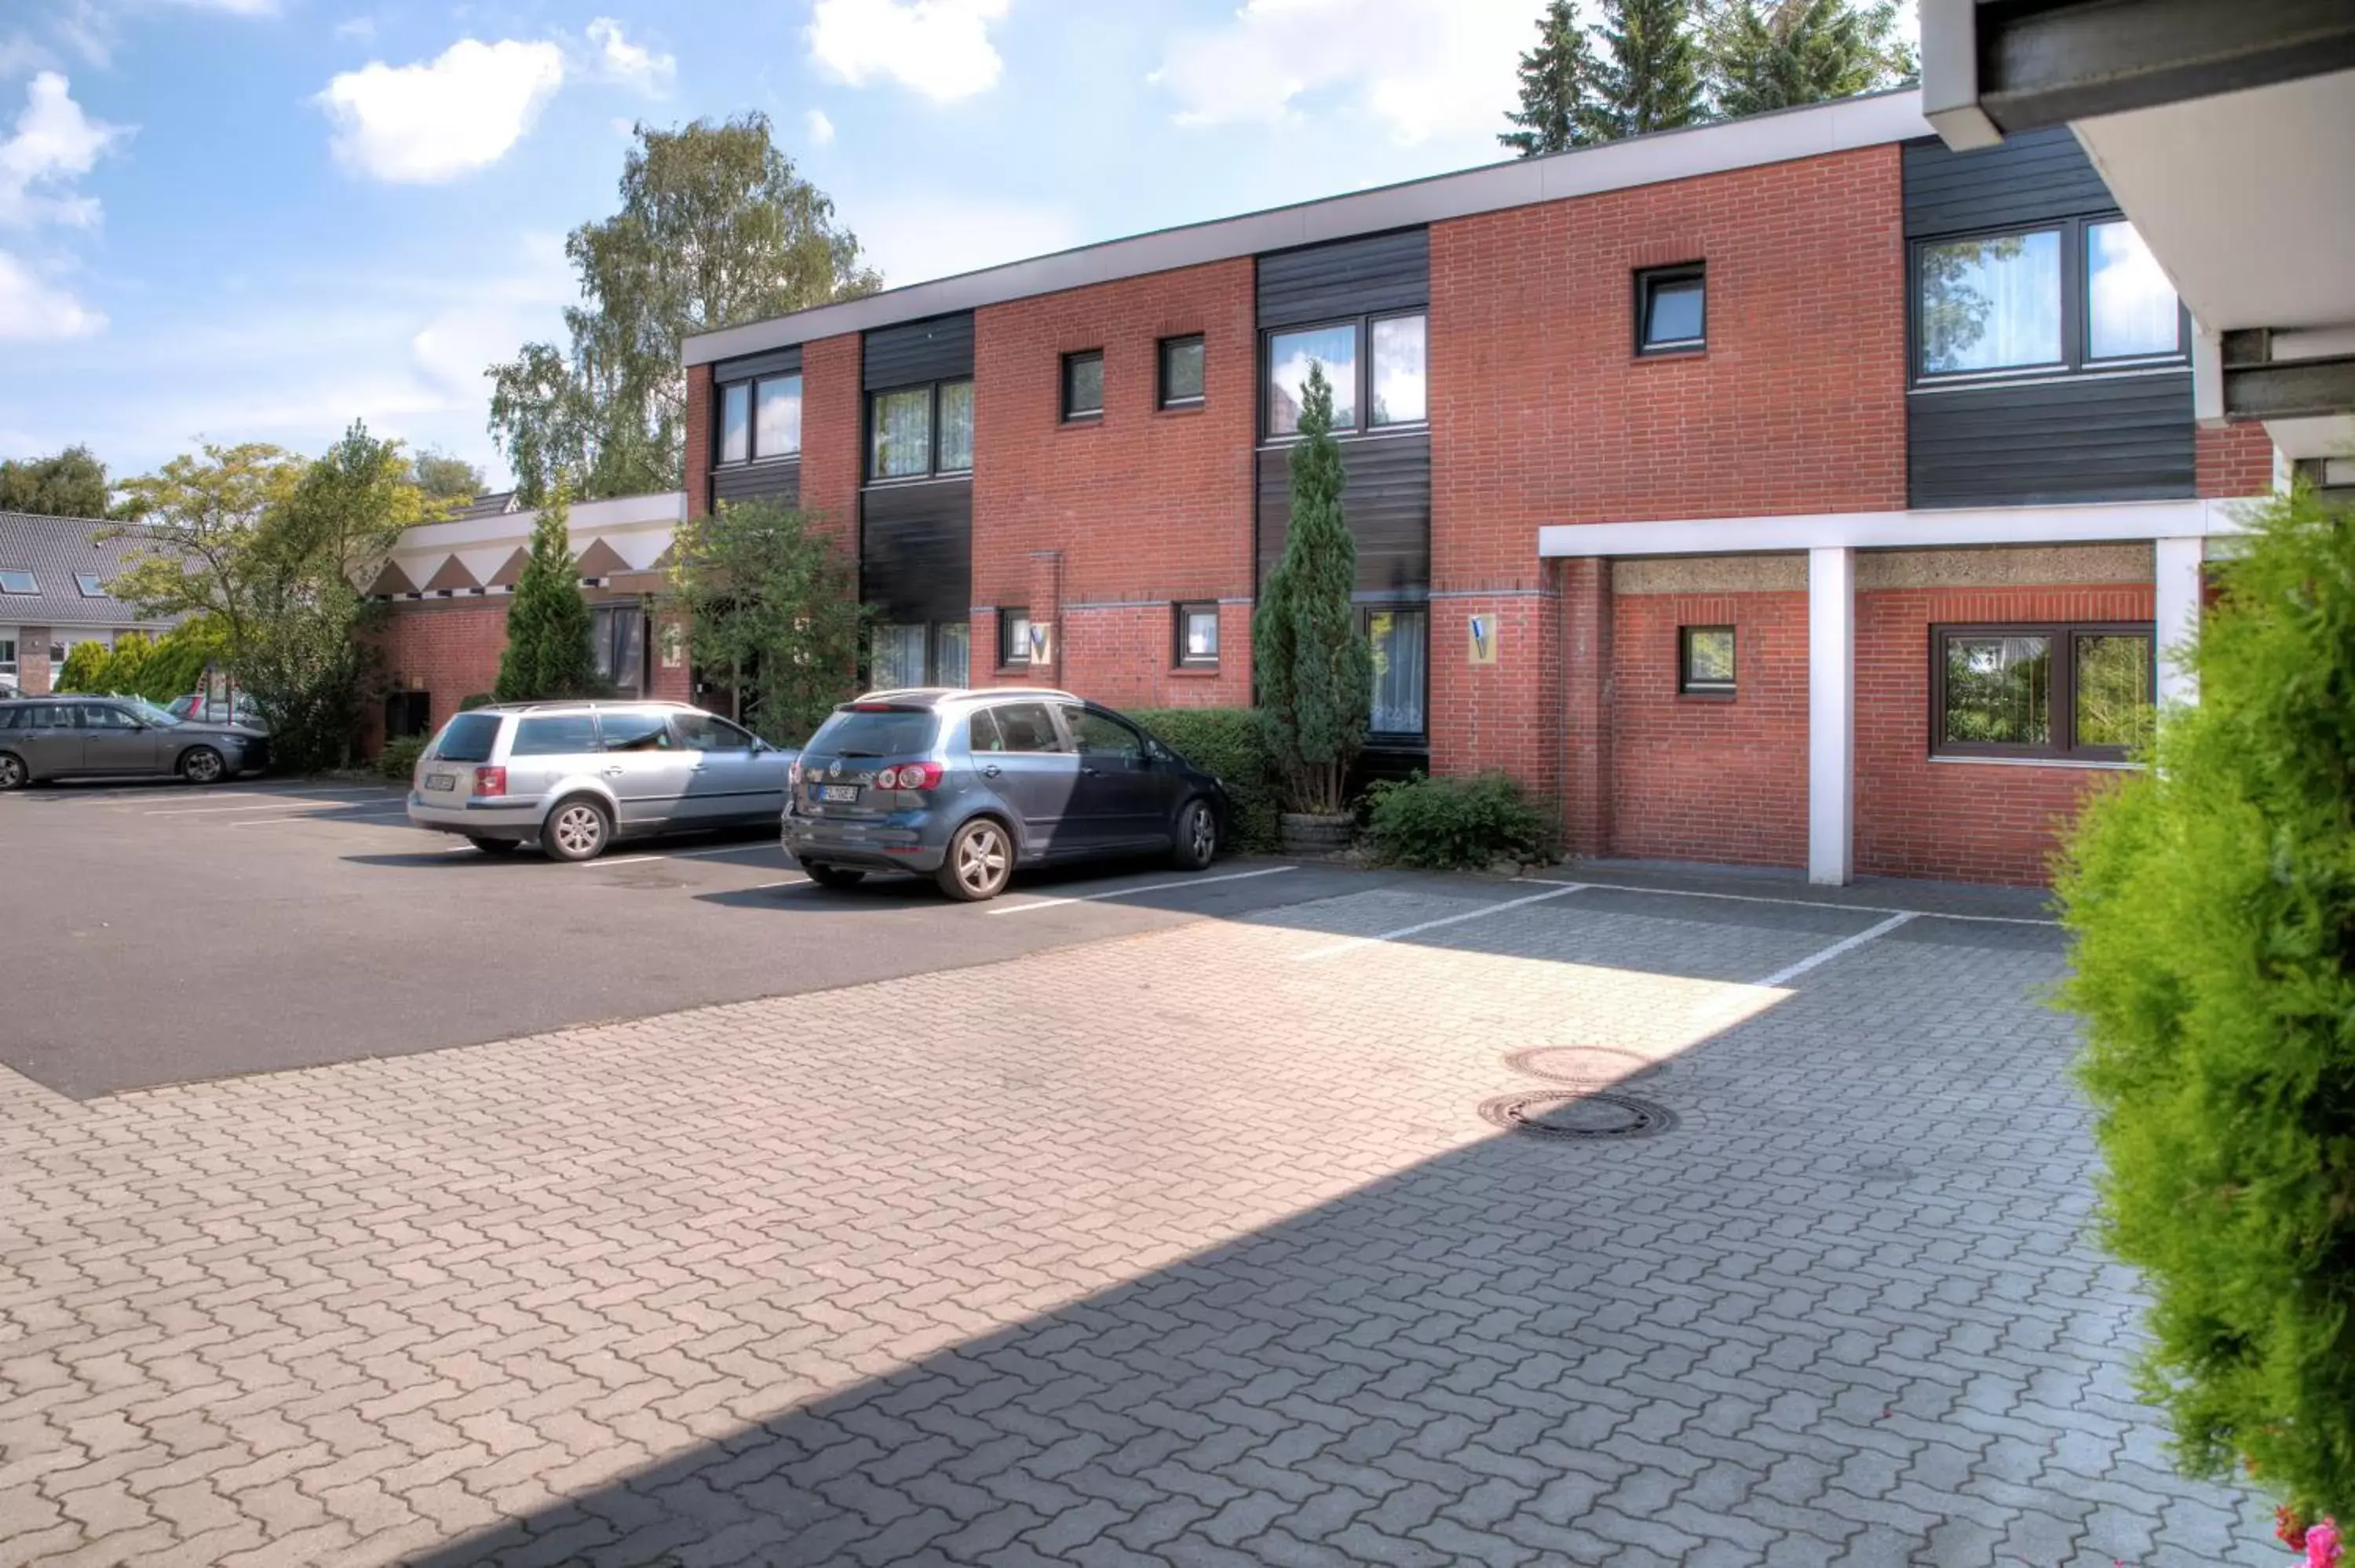
[{"label": "silver station wagon parked beside the dark blue hatchback", "polygon": [[794,753],[681,702],[459,713],[410,777],[410,822],[485,855],[596,859],[617,838],[775,826]]}]

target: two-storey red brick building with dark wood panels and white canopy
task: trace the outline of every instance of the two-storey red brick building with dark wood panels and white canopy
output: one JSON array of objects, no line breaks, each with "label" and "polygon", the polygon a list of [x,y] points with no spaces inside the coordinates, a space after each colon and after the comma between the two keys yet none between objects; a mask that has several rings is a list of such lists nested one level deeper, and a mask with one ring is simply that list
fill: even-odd
[{"label": "two-storey red brick building with dark wood panels and white canopy", "polygon": [[[2164,643],[2221,501],[2273,476],[2263,431],[2195,428],[2188,318],[2075,141],[1952,153],[1912,94],[1017,261],[685,358],[685,509],[831,518],[876,685],[1119,706],[1248,702],[1324,363],[1371,765],[1505,768],[1578,852],[1832,883],[2042,881],[2148,704],[2190,695]],[[403,657],[438,716],[426,647]]]}]

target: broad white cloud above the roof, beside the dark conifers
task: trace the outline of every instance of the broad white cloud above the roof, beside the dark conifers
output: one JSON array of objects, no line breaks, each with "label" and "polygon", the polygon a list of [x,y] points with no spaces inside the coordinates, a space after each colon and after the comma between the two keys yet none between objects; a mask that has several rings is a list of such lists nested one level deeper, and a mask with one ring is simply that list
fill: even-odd
[{"label": "broad white cloud above the roof, beside the dark conifers", "polygon": [[1173,38],[1149,80],[1189,127],[1276,122],[1335,92],[1399,144],[1493,132],[1531,16],[1528,0],[1246,0]]}]

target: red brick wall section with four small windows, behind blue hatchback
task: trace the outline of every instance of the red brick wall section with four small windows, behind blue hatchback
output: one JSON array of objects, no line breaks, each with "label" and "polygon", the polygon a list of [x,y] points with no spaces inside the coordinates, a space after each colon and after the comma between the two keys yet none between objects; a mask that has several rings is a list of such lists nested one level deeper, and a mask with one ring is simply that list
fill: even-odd
[{"label": "red brick wall section with four small windows, behind blue hatchback", "polygon": [[[1022,680],[1135,706],[1248,702],[1253,308],[1241,259],[975,311],[973,603],[1050,622],[1055,657]],[[1159,410],[1156,344],[1192,332],[1203,403]],[[1104,351],[1104,414],[1062,424],[1079,348]],[[1203,598],[1236,600],[1208,676],[1173,669],[1170,636],[1173,605]],[[984,680],[994,614],[973,617],[973,647]]]}]

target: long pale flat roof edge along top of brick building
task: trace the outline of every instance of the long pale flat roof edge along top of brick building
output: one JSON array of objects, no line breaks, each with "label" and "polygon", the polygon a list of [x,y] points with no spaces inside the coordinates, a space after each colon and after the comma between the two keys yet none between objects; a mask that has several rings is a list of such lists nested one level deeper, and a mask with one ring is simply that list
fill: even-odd
[{"label": "long pale flat roof edge along top of brick building", "polygon": [[1557,202],[1599,191],[1656,186],[1696,174],[1752,170],[1795,158],[1820,158],[1860,146],[1910,141],[1936,134],[1922,118],[1922,89],[1900,87],[1806,108],[1783,108],[1747,120],[1693,125],[1604,146],[1512,158],[1455,174],[1432,174],[1373,191],[1326,195],[1291,207],[1246,212],[1203,224],[1156,228],[1123,240],[1057,250],[1027,261],[987,266],[954,278],[909,283],[862,299],[812,306],[739,327],[699,332],[681,346],[688,365],[711,365],[747,353],[768,353],[843,332],[869,332],[904,320],[973,311],[980,306],[1057,294],[1062,290],[1166,273],[1178,266],[1232,261],[1269,250],[1347,240],[1387,228],[1415,228],[1477,212],[1502,212]]}]

